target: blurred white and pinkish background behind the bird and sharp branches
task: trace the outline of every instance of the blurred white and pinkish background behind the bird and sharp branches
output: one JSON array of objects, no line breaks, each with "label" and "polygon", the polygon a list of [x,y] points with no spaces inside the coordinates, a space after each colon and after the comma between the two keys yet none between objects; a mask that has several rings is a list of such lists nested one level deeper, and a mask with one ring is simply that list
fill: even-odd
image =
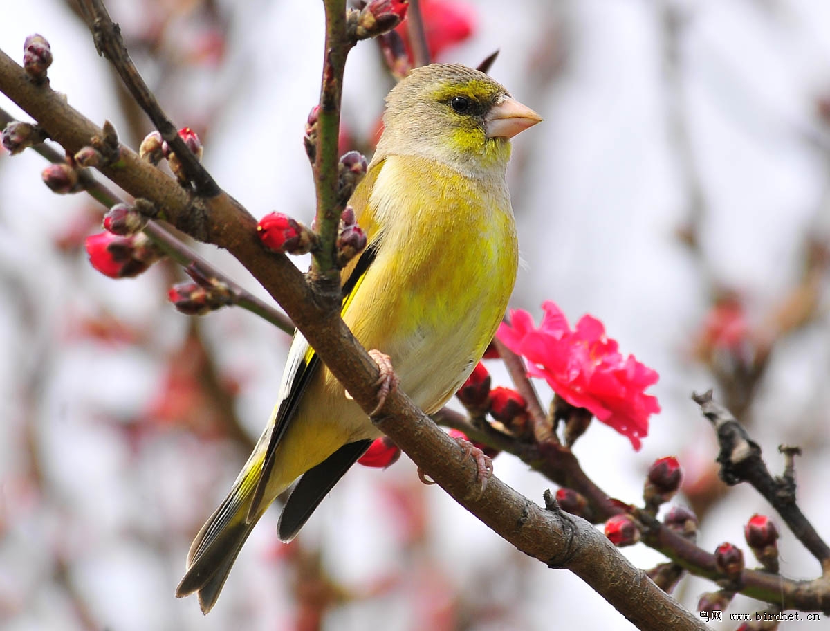
[{"label": "blurred white and pinkish background behind the bird and sharp branches", "polygon": [[[743,525],[769,506],[717,479],[713,432],[690,399],[713,387],[774,473],[779,444],[803,448],[799,501],[830,535],[830,3],[422,4],[437,61],[476,66],[499,49],[491,74],[545,118],[514,143],[525,265],[511,306],[538,319],[554,300],[572,323],[590,313],[660,374],[650,393],[662,413],[642,450],[595,422],[574,448],[583,468],[637,502],[648,465],[676,455],[685,480],[673,503],[698,513],[700,545],[732,541],[750,560]],[[309,223],[301,138],[318,97],[322,3],[107,6],[222,187],[256,217]],[[7,2],[0,48],[20,60],[33,32],[51,42],[51,86],[137,147],[149,122],[95,54],[74,2]],[[346,70],[344,149],[370,152],[392,81],[378,46],[360,43]],[[28,120],[3,95],[0,107]],[[0,153],[0,627],[633,629],[574,575],[423,486],[405,456],[385,471],[355,467],[291,545],[266,514],[207,618],[196,599],[175,599],[193,535],[271,412],[290,340],[239,309],[178,314],[166,299],[183,277],[172,264],[134,280],[100,275],[83,239],[100,230],[102,208],[51,193],[44,166],[31,151]],[[266,297],[224,252],[199,250]],[[497,362],[487,368],[509,385]],[[540,503],[553,487],[507,454],[495,468]],[[779,530],[784,575],[817,576]],[[662,560],[643,545],[624,553],[644,569]],[[686,578],[675,595],[694,609],[711,589]],[[730,611],[761,609],[739,597]]]}]

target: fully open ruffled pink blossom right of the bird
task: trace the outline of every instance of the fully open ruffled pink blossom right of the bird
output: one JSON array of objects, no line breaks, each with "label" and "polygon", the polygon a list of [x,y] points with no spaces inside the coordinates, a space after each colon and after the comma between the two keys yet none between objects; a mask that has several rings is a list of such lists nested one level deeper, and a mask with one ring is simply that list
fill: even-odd
[{"label": "fully open ruffled pink blossom right of the bird", "polygon": [[595,417],[627,436],[635,449],[648,433],[648,417],[660,411],[657,398],[644,394],[659,375],[634,359],[623,358],[618,344],[605,335],[603,323],[583,315],[571,330],[553,301],[542,305],[544,318],[535,328],[527,311],[510,312],[498,337],[524,356],[528,374],[548,382],[569,404],[587,408]]}]

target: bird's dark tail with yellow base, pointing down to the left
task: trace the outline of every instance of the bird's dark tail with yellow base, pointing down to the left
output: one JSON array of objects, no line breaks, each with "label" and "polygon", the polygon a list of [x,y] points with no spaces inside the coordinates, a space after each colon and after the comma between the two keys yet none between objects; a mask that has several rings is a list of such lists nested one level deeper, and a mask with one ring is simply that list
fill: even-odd
[{"label": "bird's dark tail with yellow base, pointing down to the left", "polygon": [[242,544],[265,512],[261,508],[251,511],[251,516],[248,514],[260,472],[261,467],[243,469],[231,492],[207,519],[190,546],[188,570],[176,588],[176,597],[198,592],[203,614],[216,604]]}]

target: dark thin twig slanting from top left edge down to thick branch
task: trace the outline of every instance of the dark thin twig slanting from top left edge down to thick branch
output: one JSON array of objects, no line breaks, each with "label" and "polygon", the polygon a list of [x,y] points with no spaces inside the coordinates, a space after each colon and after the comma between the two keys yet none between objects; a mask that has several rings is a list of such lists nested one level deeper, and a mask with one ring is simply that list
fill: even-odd
[{"label": "dark thin twig slanting from top left edge down to thick branch", "polygon": [[173,149],[173,153],[181,161],[184,174],[193,183],[195,192],[203,197],[215,197],[219,194],[218,184],[207,173],[207,169],[198,161],[193,152],[179,138],[176,126],[164,114],[159,100],[150,91],[144,79],[139,74],[121,37],[121,29],[110,18],[104,2],[101,0],[81,0],[81,10],[87,25],[90,27],[95,40],[95,49],[99,55],[105,56],[118,71],[121,80],[141,109],[153,121],[156,129]]}]

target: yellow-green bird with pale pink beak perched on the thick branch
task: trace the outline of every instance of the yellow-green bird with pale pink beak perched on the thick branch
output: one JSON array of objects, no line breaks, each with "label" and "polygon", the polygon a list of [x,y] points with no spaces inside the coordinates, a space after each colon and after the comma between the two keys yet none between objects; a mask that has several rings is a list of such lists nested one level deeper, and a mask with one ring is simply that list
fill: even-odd
[{"label": "yellow-green bird with pale pink beak perched on the thick branch", "polygon": [[[417,68],[386,99],[383,135],[349,200],[368,246],[343,271],[342,315],[426,413],[464,383],[505,313],[519,259],[510,138],[540,120],[466,66]],[[278,526],[288,541],[378,436],[298,331],[271,421],[193,541],[176,595],[198,592],[207,614],[276,496],[300,478]]]}]

